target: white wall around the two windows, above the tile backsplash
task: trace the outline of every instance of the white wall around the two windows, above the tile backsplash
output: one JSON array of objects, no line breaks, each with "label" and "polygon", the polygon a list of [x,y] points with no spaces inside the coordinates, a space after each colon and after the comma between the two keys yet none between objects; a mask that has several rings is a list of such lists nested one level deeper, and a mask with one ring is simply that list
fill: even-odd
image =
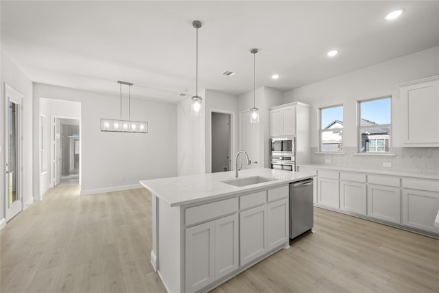
[{"label": "white wall around the two windows, above the tile backsplash", "polygon": [[357,147],[357,101],[392,95],[392,145],[401,146],[401,105],[396,84],[438,74],[439,47],[434,47],[287,91],[283,103],[311,104],[311,147],[318,146],[318,108],[343,104],[343,145]]}]

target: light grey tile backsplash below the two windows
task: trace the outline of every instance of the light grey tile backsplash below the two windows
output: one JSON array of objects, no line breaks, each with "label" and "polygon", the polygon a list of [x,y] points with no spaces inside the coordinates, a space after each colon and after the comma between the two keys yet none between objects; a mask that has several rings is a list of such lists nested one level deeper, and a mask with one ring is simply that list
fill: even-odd
[{"label": "light grey tile backsplash below the two windows", "polygon": [[[357,148],[344,147],[344,154],[316,154],[311,148],[311,163],[335,167],[353,167],[381,171],[439,174],[439,148],[392,148],[394,156],[357,155]],[[331,163],[326,163],[331,160]],[[383,167],[391,163],[392,167]]]}]

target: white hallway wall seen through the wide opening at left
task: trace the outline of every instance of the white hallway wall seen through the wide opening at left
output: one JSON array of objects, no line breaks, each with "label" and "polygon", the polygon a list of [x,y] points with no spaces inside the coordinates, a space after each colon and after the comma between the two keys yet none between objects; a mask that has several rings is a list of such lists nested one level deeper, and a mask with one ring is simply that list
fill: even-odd
[{"label": "white hallway wall seen through the wide opening at left", "polygon": [[[60,99],[45,99],[40,98],[40,114],[45,116],[45,132],[43,132],[43,139],[45,143],[45,158],[47,168],[45,172],[40,172],[40,197],[43,196],[45,191],[51,186],[51,121],[53,116],[78,118],[81,117],[81,103],[64,101]],[[40,134],[41,137],[41,134]],[[40,170],[41,171],[41,170]],[[82,179],[82,178],[81,178]],[[80,181],[80,183],[82,183]]]}]

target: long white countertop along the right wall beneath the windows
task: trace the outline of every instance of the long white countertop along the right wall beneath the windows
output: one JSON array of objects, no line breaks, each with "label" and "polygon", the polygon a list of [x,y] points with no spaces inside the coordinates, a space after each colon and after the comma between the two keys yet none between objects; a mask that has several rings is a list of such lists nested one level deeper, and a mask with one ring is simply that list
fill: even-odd
[{"label": "long white countertop along the right wall beneath the windows", "polygon": [[298,167],[299,167],[299,169],[300,169],[300,167],[309,167],[309,168],[315,168],[315,169],[331,169],[331,170],[346,171],[346,172],[357,172],[357,173],[367,173],[367,174],[379,174],[379,175],[390,175],[390,176],[439,180],[438,173],[407,172],[407,171],[394,171],[394,170],[383,171],[383,170],[359,169],[359,168],[355,168],[355,167],[338,167],[338,166],[333,166],[333,165],[320,165],[320,164],[298,165]]}]

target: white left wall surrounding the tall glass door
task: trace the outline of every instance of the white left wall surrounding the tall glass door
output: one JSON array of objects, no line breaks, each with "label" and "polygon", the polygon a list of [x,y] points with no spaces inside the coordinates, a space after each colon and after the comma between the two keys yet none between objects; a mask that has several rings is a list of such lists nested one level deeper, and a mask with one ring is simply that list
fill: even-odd
[{"label": "white left wall surrounding the tall glass door", "polygon": [[1,51],[1,101],[0,101],[0,226],[5,218],[5,84],[23,95],[23,202],[24,208],[32,204],[32,82],[12,60]]}]

